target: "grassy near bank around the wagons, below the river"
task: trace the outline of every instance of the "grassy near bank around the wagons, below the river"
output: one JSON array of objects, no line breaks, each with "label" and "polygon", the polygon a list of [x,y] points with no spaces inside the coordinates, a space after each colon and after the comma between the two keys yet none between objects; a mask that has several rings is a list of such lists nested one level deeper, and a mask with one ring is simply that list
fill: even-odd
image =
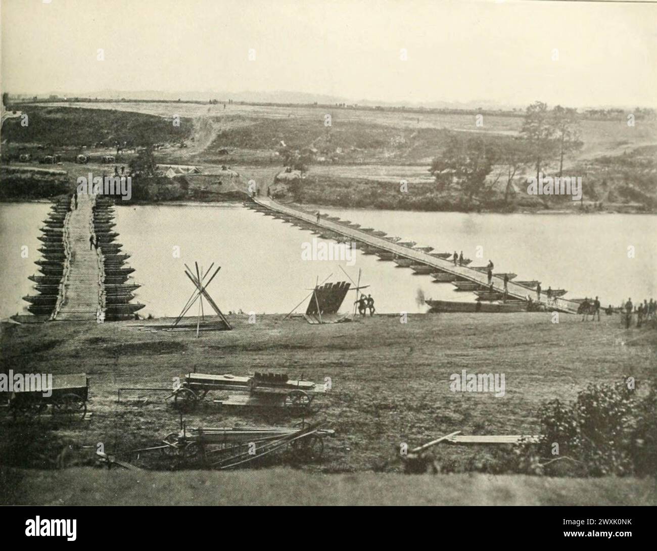
[{"label": "grassy near bank around the wagons, below the river", "polygon": [[[122,324],[3,324],[3,367],[15,372],[87,372],[91,420],[57,426],[45,415],[34,424],[6,424],[0,463],[53,468],[69,443],[95,446],[129,458],[131,449],[155,445],[177,430],[179,417],[166,393],[137,391],[117,403],[118,387],[170,387],[194,370],[248,374],[287,372],[315,382],[330,377],[320,397],[336,436],[324,458],[300,466],[311,472],[396,472],[401,443],[420,445],[438,435],[535,434],[542,401],[574,399],[589,383],[625,376],[654,377],[657,334],[625,330],[618,317],[580,322],[547,314],[413,315],[374,317],[351,324],[311,326],[282,316],[231,318],[235,330],[202,334],[140,332]],[[466,369],[504,373],[504,397],[453,393],[449,376]],[[217,397],[219,397],[217,395]],[[220,408],[206,400],[185,415],[191,426],[278,424],[296,419],[283,412]],[[444,446],[436,450],[443,472],[503,472],[504,458],[489,449]],[[291,464],[287,454],[272,464]],[[501,461],[501,462],[500,462]],[[159,456],[139,461],[148,468],[179,468]],[[189,467],[189,466],[186,466]]]}]

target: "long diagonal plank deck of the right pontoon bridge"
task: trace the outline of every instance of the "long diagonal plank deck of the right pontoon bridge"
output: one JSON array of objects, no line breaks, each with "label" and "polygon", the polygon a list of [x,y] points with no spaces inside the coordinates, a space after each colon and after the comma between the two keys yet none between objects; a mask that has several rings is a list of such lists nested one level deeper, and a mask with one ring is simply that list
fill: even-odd
[{"label": "long diagonal plank deck of the right pontoon bridge", "polygon": [[[486,273],[468,268],[466,266],[455,266],[453,261],[437,258],[428,253],[405,247],[403,245],[397,245],[396,243],[390,242],[382,237],[377,237],[367,232],[359,231],[358,229],[350,228],[322,217],[320,217],[318,223],[317,217],[315,215],[300,211],[299,209],[292,208],[290,206],[283,205],[269,197],[256,196],[253,198],[253,200],[256,202],[256,204],[271,211],[279,212],[284,215],[303,220],[317,227],[325,228],[330,231],[353,238],[355,241],[367,243],[368,245],[393,252],[398,256],[413,259],[419,264],[422,263],[433,266],[436,268],[436,271],[457,275],[465,280],[477,282],[484,287],[488,287],[488,276]],[[493,276],[493,289],[497,292],[504,292],[503,278]],[[512,281],[509,281],[507,291],[510,298],[526,300],[529,296],[534,301],[536,299],[536,292],[534,290],[528,289],[518,284],[514,284]],[[545,303],[545,301],[542,300],[541,303]],[[579,307],[578,303],[562,298],[553,298],[550,304],[551,307],[567,313],[576,313]]]}]

